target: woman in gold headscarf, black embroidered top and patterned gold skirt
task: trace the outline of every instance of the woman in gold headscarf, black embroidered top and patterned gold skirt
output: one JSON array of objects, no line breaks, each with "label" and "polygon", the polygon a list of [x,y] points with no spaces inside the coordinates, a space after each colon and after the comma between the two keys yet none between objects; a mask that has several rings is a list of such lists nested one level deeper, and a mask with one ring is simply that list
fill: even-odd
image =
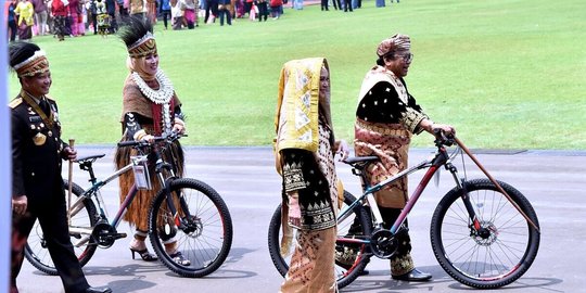
[{"label": "woman in gold headscarf, black embroidered top and patterned gold skirt", "polygon": [[337,292],[334,272],[336,214],[343,188],[334,154],[347,157],[330,115],[330,71],[322,58],[284,64],[275,120],[277,169],[282,176],[281,252],[295,250],[281,292]]}]

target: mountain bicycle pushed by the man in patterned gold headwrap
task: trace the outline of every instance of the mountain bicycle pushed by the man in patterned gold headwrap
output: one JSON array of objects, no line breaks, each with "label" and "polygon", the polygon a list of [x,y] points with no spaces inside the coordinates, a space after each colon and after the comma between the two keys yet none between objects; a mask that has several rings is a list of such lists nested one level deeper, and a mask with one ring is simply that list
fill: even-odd
[{"label": "mountain bicycle pushed by the man in patterned gold headwrap", "polygon": [[[431,245],[442,268],[456,281],[479,289],[495,289],[519,279],[531,267],[539,249],[539,224],[530,201],[512,186],[495,180],[456,137],[436,133],[434,155],[378,184],[369,184],[365,169],[377,156],[345,161],[360,177],[364,194],[344,192],[337,215],[335,275],[340,289],[365,270],[372,256],[391,258],[397,250],[395,235],[408,231],[405,225],[432,177],[444,167],[456,187],[440,201],[430,226]],[[447,146],[457,144],[455,151]],[[467,154],[488,179],[460,178],[453,161]],[[426,169],[417,189],[391,229],[384,229],[373,192],[415,171]],[[466,170],[466,169],[464,169]],[[464,171],[466,174],[466,171]],[[289,256],[280,253],[281,206],[275,212],[268,233],[269,253],[277,270],[285,276]]]}]

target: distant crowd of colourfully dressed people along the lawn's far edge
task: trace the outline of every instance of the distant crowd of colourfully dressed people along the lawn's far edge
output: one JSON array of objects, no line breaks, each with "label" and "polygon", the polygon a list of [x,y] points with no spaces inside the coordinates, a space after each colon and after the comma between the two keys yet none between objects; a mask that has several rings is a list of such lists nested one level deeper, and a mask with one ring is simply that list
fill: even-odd
[{"label": "distant crowd of colourfully dressed people along the lawn's far edge", "polygon": [[[390,0],[391,3],[394,0]],[[385,0],[375,0],[378,8]],[[396,1],[397,3],[399,0]],[[29,40],[34,36],[53,35],[58,40],[87,34],[107,36],[118,30],[128,15],[141,14],[164,29],[193,29],[204,24],[232,25],[233,20],[266,22],[279,20],[283,7],[303,10],[303,0],[7,0],[4,15],[10,41]],[[361,0],[321,0],[321,10],[353,12]]]}]

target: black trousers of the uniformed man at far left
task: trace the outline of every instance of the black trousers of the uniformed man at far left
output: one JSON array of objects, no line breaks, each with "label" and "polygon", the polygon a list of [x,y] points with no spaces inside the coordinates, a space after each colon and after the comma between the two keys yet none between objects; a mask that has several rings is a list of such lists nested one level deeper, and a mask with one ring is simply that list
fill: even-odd
[{"label": "black trousers of the uniformed man at far left", "polygon": [[69,239],[65,194],[63,190],[53,194],[55,195],[48,200],[28,199],[27,213],[24,216],[13,216],[11,285],[16,286],[16,277],[24,260],[26,239],[38,219],[65,292],[80,293],[88,289],[89,284]]}]

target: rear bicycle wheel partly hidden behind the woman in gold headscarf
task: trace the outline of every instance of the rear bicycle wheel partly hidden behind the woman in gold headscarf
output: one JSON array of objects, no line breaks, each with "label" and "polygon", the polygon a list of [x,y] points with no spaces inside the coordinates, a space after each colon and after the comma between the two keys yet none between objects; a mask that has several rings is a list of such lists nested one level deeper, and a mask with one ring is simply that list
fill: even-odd
[{"label": "rear bicycle wheel partly hidden behind the woman in gold headscarf", "polygon": [[[355,200],[356,198],[354,198],[352,193],[344,191],[345,205],[352,204]],[[347,217],[342,222],[337,222],[339,239],[351,234],[348,232],[351,227],[353,230],[359,230],[358,233],[352,232],[352,234],[356,238],[359,238],[360,235],[370,235],[370,228],[372,225],[370,214],[361,205],[356,206],[353,212],[354,213],[352,216]],[[355,219],[357,219],[356,222],[358,226],[355,225]],[[289,255],[285,259],[281,255],[281,205],[279,204],[272,214],[269,224],[268,249],[272,264],[279,273],[284,277],[289,270],[289,262],[291,260],[291,256]],[[295,242],[295,237],[293,238],[293,241]],[[353,247],[349,246],[351,245],[347,245],[347,243],[336,241],[335,275],[339,289],[342,289],[356,280],[356,278],[358,278],[358,276],[360,276],[360,273],[365,270],[365,267],[370,260],[371,254],[365,254],[365,252],[369,249],[368,245],[361,244]],[[352,255],[349,262],[348,257],[344,257],[344,255],[348,255],[348,249],[352,249],[352,252],[356,253],[349,253],[349,255]],[[342,262],[341,258],[344,258],[344,262]]]}]

